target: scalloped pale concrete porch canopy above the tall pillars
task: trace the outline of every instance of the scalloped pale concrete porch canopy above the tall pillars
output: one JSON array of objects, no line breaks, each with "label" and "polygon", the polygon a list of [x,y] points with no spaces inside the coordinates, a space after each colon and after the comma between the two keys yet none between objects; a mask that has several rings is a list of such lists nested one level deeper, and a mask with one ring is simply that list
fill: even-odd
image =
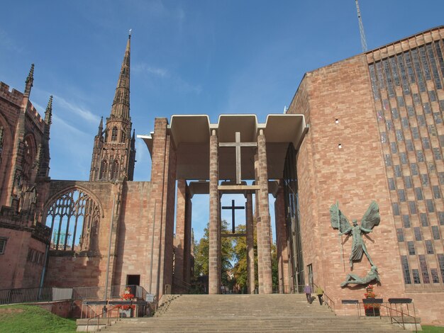
[{"label": "scalloped pale concrete porch canopy above the tall pillars", "polygon": [[[209,140],[216,130],[219,142],[256,142],[259,130],[267,140],[268,179],[281,179],[289,143],[299,148],[307,127],[304,115],[271,114],[265,123],[257,123],[256,115],[220,115],[217,124],[211,124],[208,115],[172,115],[168,133],[177,155],[177,179],[209,179]],[[138,135],[152,154],[155,133]],[[255,179],[255,147],[241,149],[242,179]],[[219,179],[235,179],[234,147],[219,147]]]}]

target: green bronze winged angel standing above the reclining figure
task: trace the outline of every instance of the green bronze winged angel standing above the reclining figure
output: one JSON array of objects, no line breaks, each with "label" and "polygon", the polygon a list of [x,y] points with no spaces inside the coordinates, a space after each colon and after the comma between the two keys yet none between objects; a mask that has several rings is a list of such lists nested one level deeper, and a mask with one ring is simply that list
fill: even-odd
[{"label": "green bronze winged angel standing above the reclining figure", "polygon": [[331,226],[334,229],[339,230],[339,235],[352,235],[353,244],[352,252],[350,254],[350,267],[353,269],[353,261],[360,261],[362,259],[362,252],[367,256],[370,265],[374,266],[370,254],[367,252],[364,240],[362,239],[362,233],[367,234],[372,232],[375,225],[379,225],[381,216],[379,215],[379,207],[375,201],[370,203],[367,212],[361,220],[361,225],[357,225],[357,220],[353,220],[353,226],[350,225],[347,218],[339,210],[339,204],[331,205],[330,207]]}]

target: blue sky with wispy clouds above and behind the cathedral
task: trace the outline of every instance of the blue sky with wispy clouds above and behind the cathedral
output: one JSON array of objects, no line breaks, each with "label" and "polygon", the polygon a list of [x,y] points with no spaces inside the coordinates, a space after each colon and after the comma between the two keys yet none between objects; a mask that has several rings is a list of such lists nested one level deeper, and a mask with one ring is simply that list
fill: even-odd
[{"label": "blue sky with wispy clouds above and behind the cathedral", "polygon": [[[442,0],[361,0],[360,9],[369,49],[444,23]],[[213,123],[221,113],[255,113],[263,122],[289,105],[305,72],[361,52],[353,0],[16,0],[1,12],[0,81],[23,91],[35,63],[30,99],[41,114],[54,95],[52,179],[88,179],[130,28],[138,135],[152,131],[155,117],[181,113],[209,114]],[[135,180],[148,181],[148,149],[136,146]],[[196,198],[201,224],[205,205]]]}]

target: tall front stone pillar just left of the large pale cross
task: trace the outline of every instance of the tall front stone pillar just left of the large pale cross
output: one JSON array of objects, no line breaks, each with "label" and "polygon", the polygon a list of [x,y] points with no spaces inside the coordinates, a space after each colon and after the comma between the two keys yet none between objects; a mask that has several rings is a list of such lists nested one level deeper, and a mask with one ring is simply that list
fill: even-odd
[{"label": "tall front stone pillar just left of the large pale cross", "polygon": [[210,137],[210,225],[209,225],[209,294],[221,293],[219,195],[218,195],[218,137],[216,130]]}]

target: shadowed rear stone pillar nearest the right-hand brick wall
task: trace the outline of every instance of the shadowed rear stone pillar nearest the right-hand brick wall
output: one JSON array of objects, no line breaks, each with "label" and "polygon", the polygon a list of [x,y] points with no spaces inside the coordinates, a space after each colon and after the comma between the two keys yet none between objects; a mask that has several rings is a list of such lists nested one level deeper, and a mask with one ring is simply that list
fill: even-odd
[{"label": "shadowed rear stone pillar nearest the right-hand brick wall", "polygon": [[289,293],[289,270],[287,249],[287,225],[285,221],[285,202],[283,181],[279,182],[276,201],[274,201],[274,220],[276,222],[277,269],[279,274],[279,293]]}]

